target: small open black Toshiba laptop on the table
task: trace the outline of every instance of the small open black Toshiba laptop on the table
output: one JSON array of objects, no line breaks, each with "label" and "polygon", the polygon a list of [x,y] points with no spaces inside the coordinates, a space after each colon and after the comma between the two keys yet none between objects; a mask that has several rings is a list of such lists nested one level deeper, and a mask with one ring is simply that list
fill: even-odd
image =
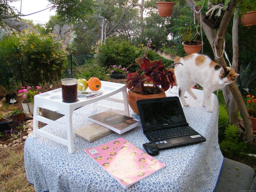
[{"label": "small open black Toshiba laptop on the table", "polygon": [[137,107],[143,133],[159,149],[206,141],[188,125],[178,97],[138,100]]}]

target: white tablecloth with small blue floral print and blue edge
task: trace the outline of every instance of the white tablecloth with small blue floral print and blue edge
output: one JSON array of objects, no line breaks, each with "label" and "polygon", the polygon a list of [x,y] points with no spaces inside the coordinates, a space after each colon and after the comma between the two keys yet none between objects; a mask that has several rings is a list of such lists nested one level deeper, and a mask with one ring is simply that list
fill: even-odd
[{"label": "white tablecloth with small blue floral print and blue edge", "polygon": [[[175,87],[176,88],[176,87]],[[169,92],[170,91],[170,92]],[[166,91],[166,96],[177,96],[174,88]],[[126,190],[102,167],[100,167],[84,148],[102,145],[120,136],[143,149],[142,144],[148,142],[142,127],[138,126],[122,135],[112,133],[97,141],[87,141],[74,135],[74,129],[90,124],[87,117],[104,111],[93,111],[92,104],[76,111],[72,116],[74,150],[70,154],[65,145],[54,142],[39,135],[33,138],[30,135],[25,142],[24,161],[28,182],[33,184],[36,191],[133,191],[133,192],[160,192],[160,191],[214,191],[222,168],[223,156],[218,145],[218,99],[211,95],[212,113],[208,113],[201,106],[201,90],[193,90],[198,100],[194,100],[188,93],[185,100],[190,104],[183,110],[189,125],[206,138],[206,142],[172,148],[160,151],[156,159],[167,166],[150,175]],[[121,93],[114,95],[122,97]],[[121,103],[102,100],[98,103],[108,103],[116,108],[124,108]],[[130,114],[131,114],[130,109]],[[57,120],[66,123],[65,117]],[[46,125],[41,128],[47,132],[67,138],[66,131]]]}]

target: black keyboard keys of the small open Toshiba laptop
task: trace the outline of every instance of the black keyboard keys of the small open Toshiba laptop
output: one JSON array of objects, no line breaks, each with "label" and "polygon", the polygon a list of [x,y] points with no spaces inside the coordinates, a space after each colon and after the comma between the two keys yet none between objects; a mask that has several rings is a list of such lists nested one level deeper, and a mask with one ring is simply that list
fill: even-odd
[{"label": "black keyboard keys of the small open Toshiba laptop", "polygon": [[146,134],[152,141],[160,141],[165,139],[171,139],[176,137],[182,137],[187,135],[197,135],[198,133],[190,126],[174,127],[169,129],[148,131]]}]

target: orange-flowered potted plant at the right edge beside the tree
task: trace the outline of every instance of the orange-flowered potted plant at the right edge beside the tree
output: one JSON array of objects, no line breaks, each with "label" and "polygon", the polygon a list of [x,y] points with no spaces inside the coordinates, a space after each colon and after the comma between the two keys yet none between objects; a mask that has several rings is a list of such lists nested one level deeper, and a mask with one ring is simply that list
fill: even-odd
[{"label": "orange-flowered potted plant at the right edge beside the tree", "polygon": [[251,122],[252,122],[252,130],[256,133],[256,99],[254,95],[247,95],[246,96],[247,102],[247,111],[250,115]]}]

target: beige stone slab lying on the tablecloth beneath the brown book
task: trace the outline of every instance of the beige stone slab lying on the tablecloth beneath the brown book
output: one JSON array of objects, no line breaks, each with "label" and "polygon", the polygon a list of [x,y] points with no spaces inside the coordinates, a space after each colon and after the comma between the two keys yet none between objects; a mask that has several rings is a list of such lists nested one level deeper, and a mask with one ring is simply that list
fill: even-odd
[{"label": "beige stone slab lying on the tablecloth beneath the brown book", "polygon": [[88,141],[89,143],[98,140],[113,133],[112,130],[98,125],[96,123],[91,123],[89,125],[75,129],[75,135]]}]

